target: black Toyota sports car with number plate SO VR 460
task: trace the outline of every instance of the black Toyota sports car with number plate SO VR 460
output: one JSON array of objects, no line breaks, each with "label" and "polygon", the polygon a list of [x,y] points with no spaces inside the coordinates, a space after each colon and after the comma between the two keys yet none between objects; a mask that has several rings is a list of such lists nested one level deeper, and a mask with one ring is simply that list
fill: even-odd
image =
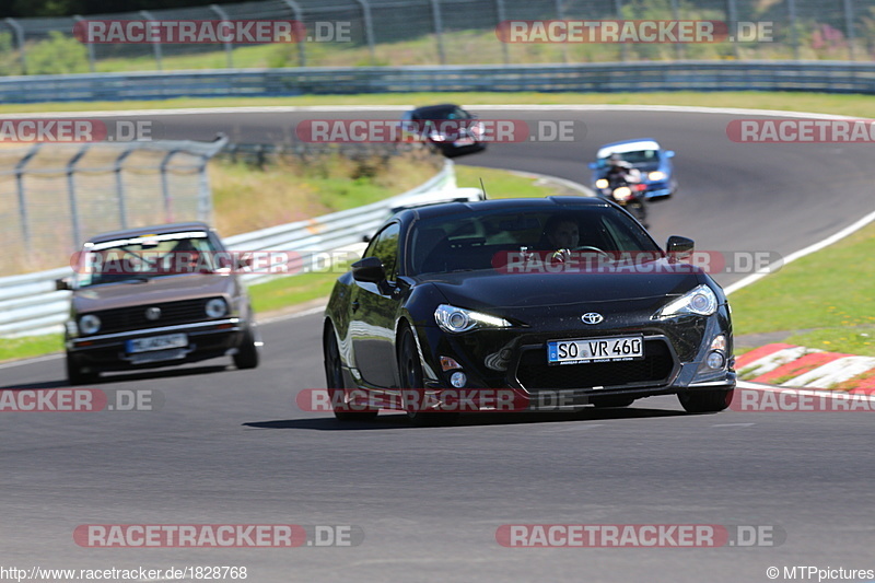
[{"label": "black Toyota sports car with number plate SO VR 460", "polygon": [[[393,217],[335,284],[327,386],[339,419],[407,410],[622,407],[677,394],[720,411],[735,388],[730,306],[618,206],[552,197]],[[440,415],[439,415],[440,413]]]}]

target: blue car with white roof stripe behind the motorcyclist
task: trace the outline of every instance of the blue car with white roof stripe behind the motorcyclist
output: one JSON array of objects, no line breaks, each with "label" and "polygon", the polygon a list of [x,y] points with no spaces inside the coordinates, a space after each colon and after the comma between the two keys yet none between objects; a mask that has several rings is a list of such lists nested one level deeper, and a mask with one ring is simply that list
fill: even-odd
[{"label": "blue car with white roof stripe behind the motorcyclist", "polygon": [[608,159],[612,154],[618,154],[641,173],[641,184],[646,186],[643,194],[648,200],[667,199],[677,190],[672,164],[675,152],[663,150],[652,138],[607,143],[599,148],[596,162],[590,164],[593,170],[593,187],[596,190],[596,183],[607,174]]}]

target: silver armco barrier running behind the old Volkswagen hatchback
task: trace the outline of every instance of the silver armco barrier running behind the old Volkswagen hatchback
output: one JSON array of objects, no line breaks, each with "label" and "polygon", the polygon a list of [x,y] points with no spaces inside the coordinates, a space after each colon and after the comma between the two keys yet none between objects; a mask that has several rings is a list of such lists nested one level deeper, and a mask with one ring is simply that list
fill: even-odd
[{"label": "silver armco barrier running behind the old Volkswagen hatchback", "polygon": [[[226,237],[225,244],[232,250],[294,250],[304,263],[314,253],[361,243],[362,236],[380,226],[389,209],[402,203],[405,198],[443,190],[456,190],[456,175],[448,160],[430,180],[401,195],[307,221]],[[290,271],[296,267],[300,265],[290,265]],[[69,314],[70,292],[56,291],[55,280],[70,275],[71,268],[63,267],[0,278],[0,338],[61,331]],[[279,276],[254,272],[243,276],[243,279],[247,283],[257,283],[271,277]]]}]

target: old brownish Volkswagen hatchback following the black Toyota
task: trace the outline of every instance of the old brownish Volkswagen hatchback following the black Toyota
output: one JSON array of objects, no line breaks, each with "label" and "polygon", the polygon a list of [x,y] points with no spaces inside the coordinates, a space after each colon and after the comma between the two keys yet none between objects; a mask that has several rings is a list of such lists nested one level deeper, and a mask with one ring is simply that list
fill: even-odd
[{"label": "old brownish Volkswagen hatchback following the black Toyota", "polygon": [[66,324],[67,376],[231,357],[258,365],[261,340],[238,272],[247,265],[200,222],[116,231],[85,242]]}]

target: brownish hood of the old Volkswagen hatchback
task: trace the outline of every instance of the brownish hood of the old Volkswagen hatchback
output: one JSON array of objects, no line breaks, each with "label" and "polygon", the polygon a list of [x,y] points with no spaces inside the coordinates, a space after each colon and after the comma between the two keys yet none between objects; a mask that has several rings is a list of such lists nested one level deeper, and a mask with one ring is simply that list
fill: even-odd
[{"label": "brownish hood of the old Volkswagen hatchback", "polygon": [[235,279],[215,273],[165,276],[148,281],[128,281],[82,288],[73,294],[78,313],[131,305],[159,304],[233,293]]}]

